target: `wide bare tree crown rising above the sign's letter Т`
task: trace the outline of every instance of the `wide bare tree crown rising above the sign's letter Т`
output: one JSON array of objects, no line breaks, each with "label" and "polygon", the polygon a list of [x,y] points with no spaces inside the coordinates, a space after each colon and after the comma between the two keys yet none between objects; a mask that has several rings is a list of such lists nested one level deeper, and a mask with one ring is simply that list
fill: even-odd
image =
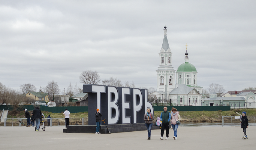
[{"label": "wide bare tree crown rising above the sign's letter \u0422", "polygon": [[79,76],[80,82],[83,84],[98,84],[100,82],[100,75],[97,71],[83,71]]}]

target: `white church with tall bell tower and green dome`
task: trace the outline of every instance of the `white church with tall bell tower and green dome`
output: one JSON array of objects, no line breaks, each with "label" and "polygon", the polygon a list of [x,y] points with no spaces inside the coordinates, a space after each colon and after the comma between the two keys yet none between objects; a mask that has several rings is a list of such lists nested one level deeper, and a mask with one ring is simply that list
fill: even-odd
[{"label": "white church with tall bell tower and green dome", "polygon": [[[202,87],[197,85],[197,71],[189,63],[189,53],[185,53],[185,62],[177,71],[172,66],[172,51],[167,40],[166,26],[163,29],[164,38],[159,52],[159,67],[157,74],[157,90],[148,95],[156,100],[170,100],[173,106],[201,106]],[[176,78],[175,78],[176,75]]]}]

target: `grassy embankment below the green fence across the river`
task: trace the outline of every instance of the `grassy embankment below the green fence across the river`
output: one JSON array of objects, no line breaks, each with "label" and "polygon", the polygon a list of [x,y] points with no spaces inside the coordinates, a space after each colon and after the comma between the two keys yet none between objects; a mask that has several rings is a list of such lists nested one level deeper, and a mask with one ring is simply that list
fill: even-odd
[{"label": "grassy embankment below the green fence across the river", "polygon": [[[245,111],[247,116],[256,116],[256,109],[231,109],[229,111],[198,111],[198,112],[180,112],[181,121],[184,122],[221,122],[222,116],[238,116],[238,112],[242,114]],[[48,115],[51,115],[51,118],[64,118],[62,113],[51,113],[42,111],[42,113],[47,118]],[[160,117],[161,112],[154,112],[154,117]],[[81,113],[71,113],[70,118],[87,118],[88,112]],[[24,111],[9,111],[7,118],[25,118]],[[228,118],[225,118],[228,119]]]}]

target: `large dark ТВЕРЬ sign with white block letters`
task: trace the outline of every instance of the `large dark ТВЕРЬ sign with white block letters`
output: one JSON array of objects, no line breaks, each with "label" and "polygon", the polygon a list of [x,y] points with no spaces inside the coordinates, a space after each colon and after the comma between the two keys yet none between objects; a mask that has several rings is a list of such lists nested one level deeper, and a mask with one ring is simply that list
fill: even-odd
[{"label": "large dark \u0422\u0412\u0415\u0420\u042c sign with white block letters", "polygon": [[88,125],[96,125],[96,109],[106,124],[144,124],[147,108],[154,113],[147,89],[85,84],[83,92],[88,93]]}]

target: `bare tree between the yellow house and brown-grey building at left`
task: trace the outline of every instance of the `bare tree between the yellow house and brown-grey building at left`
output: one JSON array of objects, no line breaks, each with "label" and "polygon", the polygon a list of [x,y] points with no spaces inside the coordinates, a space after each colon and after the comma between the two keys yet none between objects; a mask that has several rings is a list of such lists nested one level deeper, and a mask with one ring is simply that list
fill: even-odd
[{"label": "bare tree between the yellow house and brown-grey building at left", "polygon": [[49,100],[53,100],[53,96],[55,94],[60,93],[59,86],[58,86],[57,82],[54,82],[54,80],[48,82],[46,87],[43,87],[43,90],[45,91],[45,93],[49,93]]}]

